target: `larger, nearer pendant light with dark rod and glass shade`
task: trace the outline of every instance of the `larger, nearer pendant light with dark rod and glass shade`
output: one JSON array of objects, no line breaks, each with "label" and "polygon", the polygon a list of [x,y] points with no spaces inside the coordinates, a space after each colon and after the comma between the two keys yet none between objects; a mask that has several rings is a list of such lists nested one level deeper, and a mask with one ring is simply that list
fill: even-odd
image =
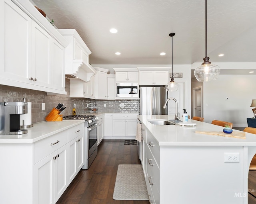
[{"label": "larger, nearer pendant light with dark rod and glass shade", "polygon": [[205,57],[202,65],[195,69],[194,75],[199,82],[215,80],[220,74],[220,67],[212,65],[207,57],[207,0],[205,0]]}]

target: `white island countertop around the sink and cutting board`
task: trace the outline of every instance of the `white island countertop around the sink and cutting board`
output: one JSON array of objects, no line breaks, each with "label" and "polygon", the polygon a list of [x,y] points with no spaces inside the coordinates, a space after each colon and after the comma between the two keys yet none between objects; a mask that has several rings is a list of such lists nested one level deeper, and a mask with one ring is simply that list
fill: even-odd
[{"label": "white island countertop around the sink and cutting board", "polygon": [[[160,146],[256,146],[256,135],[246,133],[246,139],[206,135],[195,131],[222,131],[224,127],[188,119],[196,126],[153,125],[148,120],[173,120],[174,115],[138,115]],[[233,131],[239,131],[233,129]]]}]

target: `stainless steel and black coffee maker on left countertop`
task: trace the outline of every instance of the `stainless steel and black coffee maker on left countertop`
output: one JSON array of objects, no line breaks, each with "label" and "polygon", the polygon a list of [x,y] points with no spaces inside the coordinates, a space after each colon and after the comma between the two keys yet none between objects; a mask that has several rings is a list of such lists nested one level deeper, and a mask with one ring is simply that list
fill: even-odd
[{"label": "stainless steel and black coffee maker on left countertop", "polygon": [[20,114],[28,113],[27,102],[0,102],[0,135],[21,135],[28,133],[20,129]]}]

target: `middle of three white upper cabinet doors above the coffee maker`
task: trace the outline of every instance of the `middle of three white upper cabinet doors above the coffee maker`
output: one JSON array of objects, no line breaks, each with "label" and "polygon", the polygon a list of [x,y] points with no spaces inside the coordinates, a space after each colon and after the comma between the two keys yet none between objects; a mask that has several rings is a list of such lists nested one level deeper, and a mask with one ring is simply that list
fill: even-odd
[{"label": "middle of three white upper cabinet doors above the coffee maker", "polygon": [[32,22],[32,83],[50,88],[50,45],[52,37]]}]

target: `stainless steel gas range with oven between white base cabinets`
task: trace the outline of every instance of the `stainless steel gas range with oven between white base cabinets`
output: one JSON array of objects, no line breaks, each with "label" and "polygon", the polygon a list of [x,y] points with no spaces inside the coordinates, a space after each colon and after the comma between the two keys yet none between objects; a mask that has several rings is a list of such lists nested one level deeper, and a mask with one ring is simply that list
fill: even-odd
[{"label": "stainless steel gas range with oven between white base cabinets", "polygon": [[64,116],[63,120],[85,120],[84,121],[84,153],[87,161],[84,162],[82,169],[88,169],[98,153],[97,147],[97,122],[96,116],[77,115],[77,116]]}]

